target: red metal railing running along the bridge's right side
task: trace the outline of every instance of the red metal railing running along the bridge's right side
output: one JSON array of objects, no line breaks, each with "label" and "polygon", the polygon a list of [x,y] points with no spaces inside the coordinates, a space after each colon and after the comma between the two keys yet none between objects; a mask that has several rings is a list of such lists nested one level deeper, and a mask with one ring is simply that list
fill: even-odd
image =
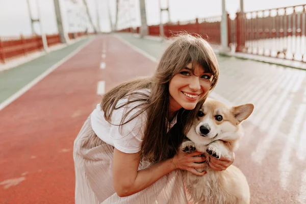
[{"label": "red metal railing running along the bridge's right side", "polygon": [[[221,16],[193,21],[166,23],[164,35],[187,31],[221,44]],[[235,52],[263,55],[306,62],[306,4],[284,8],[227,15],[228,46]],[[124,32],[137,32],[127,28]],[[159,25],[148,27],[149,35],[160,35]]]}]

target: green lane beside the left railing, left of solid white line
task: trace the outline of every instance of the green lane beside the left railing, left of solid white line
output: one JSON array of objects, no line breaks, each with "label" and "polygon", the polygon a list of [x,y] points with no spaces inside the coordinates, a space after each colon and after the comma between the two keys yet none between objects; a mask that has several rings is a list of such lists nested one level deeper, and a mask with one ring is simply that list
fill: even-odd
[{"label": "green lane beside the left railing, left of solid white line", "polygon": [[0,72],[0,104],[89,39],[82,39],[35,60]]}]

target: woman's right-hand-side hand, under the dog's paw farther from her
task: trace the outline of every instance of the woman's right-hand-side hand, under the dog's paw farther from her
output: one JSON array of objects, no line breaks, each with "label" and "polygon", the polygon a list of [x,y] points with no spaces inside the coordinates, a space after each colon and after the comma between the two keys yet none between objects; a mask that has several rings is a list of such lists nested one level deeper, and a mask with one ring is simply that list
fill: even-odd
[{"label": "woman's right-hand-side hand, under the dog's paw farther from her", "polygon": [[[228,146],[230,144],[226,144],[226,145]],[[216,171],[223,171],[227,169],[227,167],[231,166],[235,160],[235,153],[233,152],[232,148],[229,148],[229,149],[230,149],[230,152],[229,152],[230,157],[228,158],[221,157],[220,159],[216,159],[210,156],[208,165]]]}]

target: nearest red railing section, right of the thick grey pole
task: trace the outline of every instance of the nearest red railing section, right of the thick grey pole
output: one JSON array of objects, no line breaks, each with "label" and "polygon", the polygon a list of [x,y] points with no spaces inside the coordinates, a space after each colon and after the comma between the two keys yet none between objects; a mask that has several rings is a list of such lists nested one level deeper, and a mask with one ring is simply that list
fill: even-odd
[{"label": "nearest red railing section, right of the thick grey pole", "polygon": [[305,7],[238,13],[236,51],[306,62]]}]

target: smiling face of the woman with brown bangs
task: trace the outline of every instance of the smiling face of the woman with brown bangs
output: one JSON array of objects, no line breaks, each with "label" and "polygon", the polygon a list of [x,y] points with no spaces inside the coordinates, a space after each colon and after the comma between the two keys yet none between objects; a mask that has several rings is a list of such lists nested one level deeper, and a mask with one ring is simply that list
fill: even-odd
[{"label": "smiling face of the woman with brown bangs", "polygon": [[169,83],[171,113],[181,108],[194,109],[198,101],[210,90],[212,74],[204,72],[198,64],[194,74],[191,68],[192,63],[189,63],[180,73],[175,74]]}]

